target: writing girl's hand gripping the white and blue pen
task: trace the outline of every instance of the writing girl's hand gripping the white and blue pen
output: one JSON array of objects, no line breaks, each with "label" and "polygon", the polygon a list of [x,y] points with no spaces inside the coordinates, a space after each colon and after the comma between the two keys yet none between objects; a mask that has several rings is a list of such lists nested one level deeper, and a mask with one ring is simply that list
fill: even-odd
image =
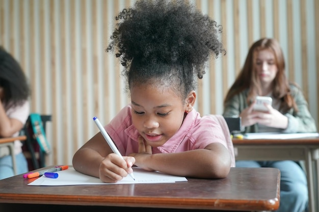
[{"label": "writing girl's hand gripping the white and blue pen", "polygon": [[99,167],[99,177],[105,183],[116,183],[132,173],[134,157],[123,156],[124,160],[115,153],[109,154],[103,159]]}]

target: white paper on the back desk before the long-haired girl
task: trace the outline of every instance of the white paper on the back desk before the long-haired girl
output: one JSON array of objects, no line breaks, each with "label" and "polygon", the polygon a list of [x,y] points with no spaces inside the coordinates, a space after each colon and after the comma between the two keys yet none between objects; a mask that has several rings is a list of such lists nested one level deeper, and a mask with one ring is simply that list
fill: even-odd
[{"label": "white paper on the back desk before the long-haired girl", "polygon": [[246,133],[245,139],[293,139],[318,137],[319,133]]}]

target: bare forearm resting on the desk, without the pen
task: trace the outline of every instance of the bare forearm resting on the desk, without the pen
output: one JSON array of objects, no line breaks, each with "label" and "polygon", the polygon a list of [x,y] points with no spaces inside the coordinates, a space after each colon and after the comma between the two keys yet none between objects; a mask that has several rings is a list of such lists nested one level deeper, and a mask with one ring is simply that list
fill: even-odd
[{"label": "bare forearm resting on the desk, without the pen", "polygon": [[181,153],[139,153],[134,157],[135,165],[141,168],[195,178],[225,178],[231,165],[228,149],[221,143]]}]

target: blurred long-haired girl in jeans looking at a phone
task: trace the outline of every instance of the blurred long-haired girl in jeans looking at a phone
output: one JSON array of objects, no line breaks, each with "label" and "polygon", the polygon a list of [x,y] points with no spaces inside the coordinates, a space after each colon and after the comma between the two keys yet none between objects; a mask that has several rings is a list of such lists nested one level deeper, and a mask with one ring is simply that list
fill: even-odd
[{"label": "blurred long-haired girl in jeans looking at a phone", "polygon": [[[254,110],[256,96],[271,97],[267,111]],[[249,49],[242,71],[224,100],[225,117],[241,117],[243,133],[316,132],[300,87],[288,82],[284,56],[275,39],[262,38]],[[236,167],[275,167],[281,171],[277,211],[302,212],[308,205],[307,178],[294,161],[236,161]]]}]

